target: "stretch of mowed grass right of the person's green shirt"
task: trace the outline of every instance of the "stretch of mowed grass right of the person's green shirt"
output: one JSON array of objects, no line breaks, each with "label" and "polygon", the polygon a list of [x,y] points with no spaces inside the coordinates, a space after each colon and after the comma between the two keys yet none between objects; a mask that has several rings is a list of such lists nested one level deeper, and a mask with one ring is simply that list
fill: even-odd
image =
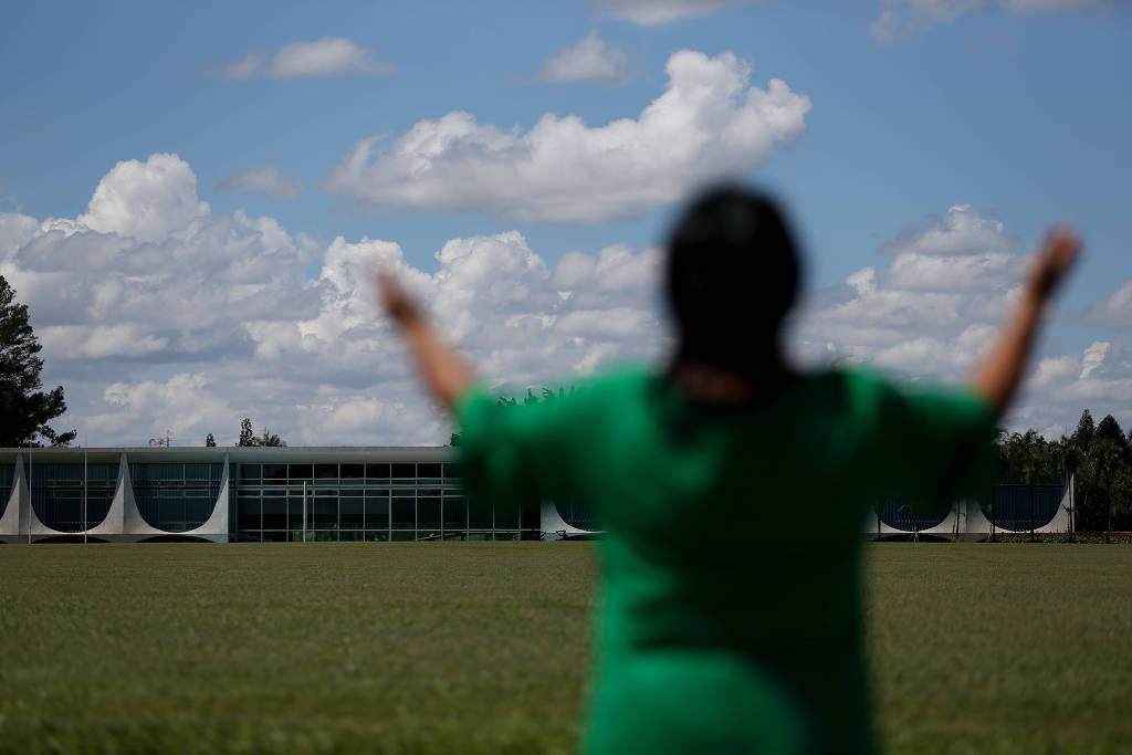
[{"label": "stretch of mowed grass right of the person's green shirt", "polygon": [[1132,548],[866,552],[887,752],[1132,753]]}]

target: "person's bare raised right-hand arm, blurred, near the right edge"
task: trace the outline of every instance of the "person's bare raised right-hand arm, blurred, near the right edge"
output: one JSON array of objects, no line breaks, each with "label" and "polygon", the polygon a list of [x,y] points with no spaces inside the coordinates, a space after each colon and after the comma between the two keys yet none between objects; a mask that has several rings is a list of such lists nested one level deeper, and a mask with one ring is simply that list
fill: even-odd
[{"label": "person's bare raised right-hand arm, blurred, near the right edge", "polygon": [[1081,238],[1072,230],[1049,234],[1037,251],[1022,297],[1006,324],[971,375],[971,387],[1001,415],[1010,405],[1034,348],[1041,311],[1081,249]]}]

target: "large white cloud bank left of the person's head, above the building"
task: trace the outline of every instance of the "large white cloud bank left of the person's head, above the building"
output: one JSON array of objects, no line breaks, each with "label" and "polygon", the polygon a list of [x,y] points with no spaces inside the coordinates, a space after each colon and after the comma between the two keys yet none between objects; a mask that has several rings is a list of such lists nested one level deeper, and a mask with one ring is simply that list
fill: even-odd
[{"label": "large white cloud bank left of the person's head, above the building", "polygon": [[129,203],[92,203],[78,218],[0,214],[0,275],[29,307],[45,385],[67,391],[59,423],[92,444],[144,444],[170,428],[185,444],[208,432],[232,443],[242,417],[293,445],[446,441],[451,428],[375,307],[377,263],[508,391],[663,349],[654,249],[614,244],[552,265],[508,231],[452,239],[422,269],[395,241],[316,244],[271,217],[212,214],[175,156],[121,163],[100,187],[162,164],[140,171],[143,185],[180,201],[153,203],[145,223]]}]

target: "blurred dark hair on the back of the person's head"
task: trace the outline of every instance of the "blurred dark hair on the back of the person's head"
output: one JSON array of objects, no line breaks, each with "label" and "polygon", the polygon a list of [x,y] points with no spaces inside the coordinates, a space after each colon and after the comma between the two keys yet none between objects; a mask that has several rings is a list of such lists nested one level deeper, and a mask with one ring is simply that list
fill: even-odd
[{"label": "blurred dark hair on the back of the person's head", "polygon": [[735,187],[707,191],[669,244],[667,292],[680,355],[758,370],[778,345],[800,278],[794,240],[770,198]]}]

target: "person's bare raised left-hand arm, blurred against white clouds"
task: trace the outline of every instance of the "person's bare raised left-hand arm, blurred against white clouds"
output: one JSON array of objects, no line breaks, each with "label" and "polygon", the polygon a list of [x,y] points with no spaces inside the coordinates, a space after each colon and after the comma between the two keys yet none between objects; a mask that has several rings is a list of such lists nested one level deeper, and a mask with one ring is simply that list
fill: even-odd
[{"label": "person's bare raised left-hand arm, blurred against white clouds", "polygon": [[379,269],[376,283],[385,311],[401,328],[424,385],[445,409],[452,410],[456,398],[474,379],[472,368],[440,341],[424,314],[401,288],[393,273]]}]

